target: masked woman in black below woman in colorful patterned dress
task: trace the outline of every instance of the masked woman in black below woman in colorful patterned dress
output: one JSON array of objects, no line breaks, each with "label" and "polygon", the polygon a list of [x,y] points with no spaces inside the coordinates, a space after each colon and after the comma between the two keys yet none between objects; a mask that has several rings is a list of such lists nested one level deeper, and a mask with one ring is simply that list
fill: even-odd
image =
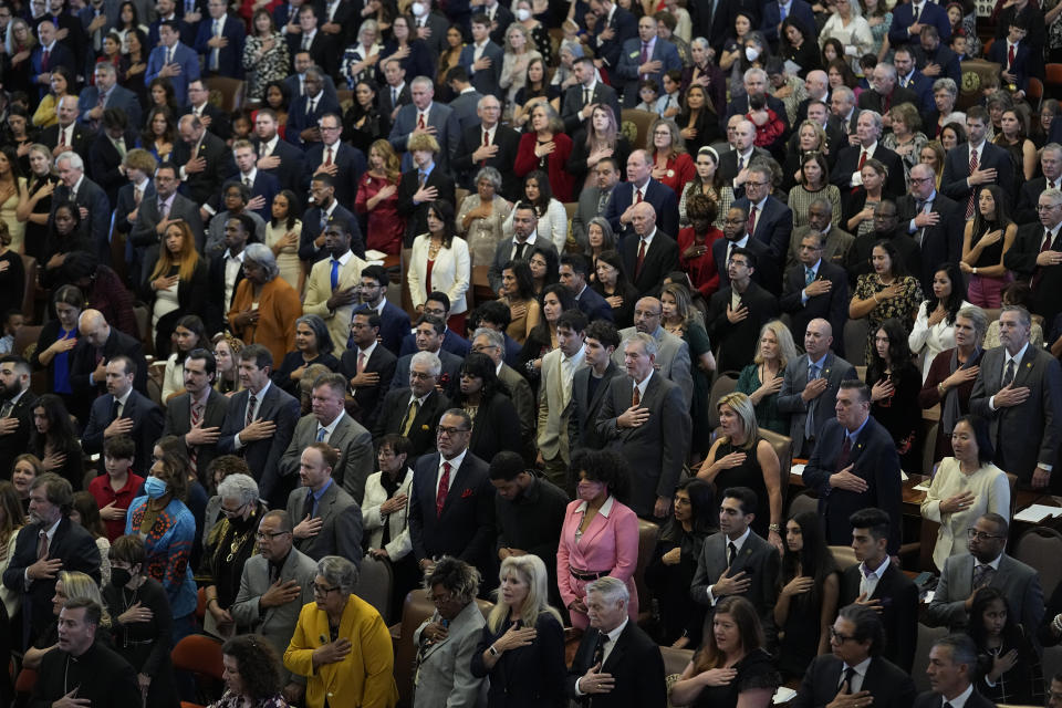
[{"label": "masked woman in black below woman in colorful patterned dress", "polygon": [[107,558],[111,582],[103,589],[103,600],[114,617],[114,650],[136,671],[147,705],[177,708],[180,701],[169,660],[174,617],[166,591],[147,576],[144,541],[137,535],[118,537]]}]

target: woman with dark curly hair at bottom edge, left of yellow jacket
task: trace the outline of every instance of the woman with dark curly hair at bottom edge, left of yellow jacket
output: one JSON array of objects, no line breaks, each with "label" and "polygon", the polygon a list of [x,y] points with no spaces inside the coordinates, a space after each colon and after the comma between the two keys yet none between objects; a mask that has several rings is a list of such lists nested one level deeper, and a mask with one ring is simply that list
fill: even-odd
[{"label": "woman with dark curly hair at bottom edge, left of yellow jacket", "polygon": [[208,708],[287,708],[281,693],[284,671],[269,639],[235,636],[221,645],[225,694]]}]

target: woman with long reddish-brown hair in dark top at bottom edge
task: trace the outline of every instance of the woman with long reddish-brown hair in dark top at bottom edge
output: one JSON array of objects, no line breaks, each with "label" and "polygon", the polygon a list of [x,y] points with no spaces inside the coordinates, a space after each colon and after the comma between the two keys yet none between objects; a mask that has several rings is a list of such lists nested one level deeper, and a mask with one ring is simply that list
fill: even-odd
[{"label": "woman with long reddish-brown hair in dark top at bottom edge", "polygon": [[768,708],[781,677],[763,644],[752,603],[740,595],[723,597],[716,604],[711,631],[668,700],[698,708]]}]

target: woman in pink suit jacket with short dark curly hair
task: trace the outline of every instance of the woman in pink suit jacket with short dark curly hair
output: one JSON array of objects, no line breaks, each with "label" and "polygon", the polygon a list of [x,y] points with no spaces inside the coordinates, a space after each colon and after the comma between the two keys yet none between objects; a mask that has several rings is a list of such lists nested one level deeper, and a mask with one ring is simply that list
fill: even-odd
[{"label": "woman in pink suit jacket with short dark curly hair", "polygon": [[615,452],[592,450],[573,459],[572,469],[579,470],[577,498],[568,504],[556,549],[556,583],[572,626],[585,629],[590,625],[584,587],[604,575],[626,583],[631,593],[627,607],[635,620],[638,517],[620,501],[629,487],[626,465]]}]

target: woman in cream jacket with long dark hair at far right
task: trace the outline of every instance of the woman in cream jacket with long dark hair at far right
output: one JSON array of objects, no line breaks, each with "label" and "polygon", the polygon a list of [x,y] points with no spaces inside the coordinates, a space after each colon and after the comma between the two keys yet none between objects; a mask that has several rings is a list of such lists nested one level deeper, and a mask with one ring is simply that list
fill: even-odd
[{"label": "woman in cream jacket with long dark hair at far right", "polygon": [[968,553],[966,530],[986,513],[1010,519],[1010,485],[1003,470],[992,464],[995,446],[988,421],[965,415],[951,430],[954,457],[940,460],[929,485],[922,516],[940,524],[933,546],[933,562],[944,570],[952,555]]}]

